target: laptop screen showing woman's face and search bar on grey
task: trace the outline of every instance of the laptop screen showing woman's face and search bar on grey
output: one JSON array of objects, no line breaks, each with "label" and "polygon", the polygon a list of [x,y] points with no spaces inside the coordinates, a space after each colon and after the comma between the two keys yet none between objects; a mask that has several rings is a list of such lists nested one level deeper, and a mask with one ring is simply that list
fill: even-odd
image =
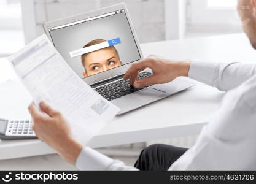
[{"label": "laptop screen showing woman's face and search bar on grey", "polygon": [[48,31],[55,48],[82,79],[141,59],[123,9]]}]

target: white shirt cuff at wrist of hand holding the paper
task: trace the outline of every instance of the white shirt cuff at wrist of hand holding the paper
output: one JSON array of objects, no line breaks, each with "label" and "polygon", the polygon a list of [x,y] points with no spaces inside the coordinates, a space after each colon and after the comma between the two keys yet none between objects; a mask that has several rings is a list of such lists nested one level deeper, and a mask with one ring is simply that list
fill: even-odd
[{"label": "white shirt cuff at wrist of hand holding the paper", "polygon": [[76,167],[79,170],[106,170],[113,162],[113,159],[98,151],[84,147],[77,157]]}]

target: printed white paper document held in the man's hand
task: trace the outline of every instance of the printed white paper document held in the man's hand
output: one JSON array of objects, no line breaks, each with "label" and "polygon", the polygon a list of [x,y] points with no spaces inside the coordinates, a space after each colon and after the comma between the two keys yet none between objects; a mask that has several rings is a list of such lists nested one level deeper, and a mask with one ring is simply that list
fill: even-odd
[{"label": "printed white paper document held in the man's hand", "polygon": [[38,105],[45,101],[63,113],[82,144],[103,128],[118,107],[102,98],[72,71],[45,34],[9,58]]}]

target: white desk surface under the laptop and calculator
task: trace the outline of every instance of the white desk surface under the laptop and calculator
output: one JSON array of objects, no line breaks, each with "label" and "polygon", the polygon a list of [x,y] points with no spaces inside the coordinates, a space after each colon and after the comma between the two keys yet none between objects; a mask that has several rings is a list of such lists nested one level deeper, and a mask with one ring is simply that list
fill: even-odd
[{"label": "white desk surface under the laptop and calculator", "polygon": [[[174,59],[202,59],[205,62],[212,60],[225,63],[256,60],[256,52],[252,50],[244,34],[155,42],[141,44],[141,48],[144,56],[154,53]],[[0,62],[0,82],[4,78],[15,79],[7,61]],[[204,123],[217,110],[224,93],[203,83],[196,83],[195,87],[187,91],[115,117],[91,140],[90,147],[107,147],[198,134]],[[0,142],[0,159],[53,152],[39,140]]]}]

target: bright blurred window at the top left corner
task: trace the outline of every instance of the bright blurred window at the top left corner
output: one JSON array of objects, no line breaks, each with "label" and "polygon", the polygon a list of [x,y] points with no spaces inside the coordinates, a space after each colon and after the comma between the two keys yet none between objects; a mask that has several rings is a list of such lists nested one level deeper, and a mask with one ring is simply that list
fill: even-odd
[{"label": "bright blurred window at the top left corner", "polygon": [[0,1],[0,57],[24,46],[20,0]]}]

